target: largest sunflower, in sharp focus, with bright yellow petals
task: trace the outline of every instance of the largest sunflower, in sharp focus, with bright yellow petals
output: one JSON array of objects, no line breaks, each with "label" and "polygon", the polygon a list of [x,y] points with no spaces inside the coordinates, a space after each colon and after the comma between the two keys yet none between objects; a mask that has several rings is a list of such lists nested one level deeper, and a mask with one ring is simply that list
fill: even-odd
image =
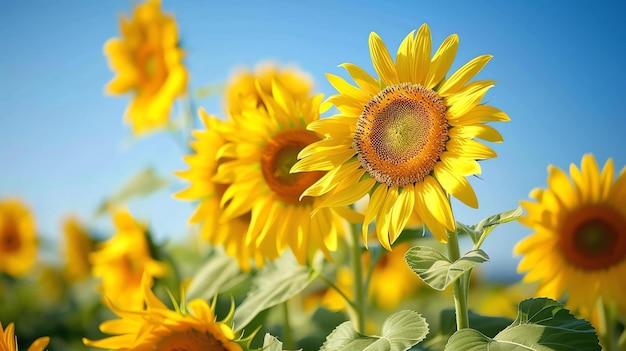
[{"label": "largest sunflower, in sharp focus, with bright yellow petals", "polygon": [[319,207],[349,205],[371,193],[363,236],[375,221],[378,239],[389,250],[413,212],[446,242],[446,230],[455,229],[448,194],[476,208],[465,177],[480,174],[478,160],[496,157],[476,138],[502,141],[485,123],[509,117],[480,104],[494,81],[469,83],[491,56],[478,56],[446,77],[457,46],[458,36],[450,35],[431,58],[424,24],[404,38],[394,62],[372,32],[369,48],[379,78],[350,63],[341,66],[356,86],[327,74],[338,91],[327,101],[339,113],[307,127],[324,139],[302,150],[292,169],[329,171],[303,193],[330,195]]}]

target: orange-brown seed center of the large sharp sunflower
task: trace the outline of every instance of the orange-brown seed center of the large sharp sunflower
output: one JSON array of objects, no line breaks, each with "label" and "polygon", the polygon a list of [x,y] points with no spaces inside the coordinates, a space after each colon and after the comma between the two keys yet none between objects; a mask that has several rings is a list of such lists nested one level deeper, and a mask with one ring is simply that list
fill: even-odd
[{"label": "orange-brown seed center of the large sharp sunflower", "polygon": [[354,148],[363,168],[388,186],[418,183],[435,168],[448,141],[445,101],[419,84],[388,86],[357,122]]}]

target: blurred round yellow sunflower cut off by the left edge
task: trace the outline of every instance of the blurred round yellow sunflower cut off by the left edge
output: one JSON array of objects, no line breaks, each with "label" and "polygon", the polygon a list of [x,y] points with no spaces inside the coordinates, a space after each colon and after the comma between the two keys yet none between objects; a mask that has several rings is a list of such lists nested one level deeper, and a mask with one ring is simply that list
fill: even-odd
[{"label": "blurred round yellow sunflower cut off by the left edge", "polygon": [[19,200],[0,201],[0,272],[23,277],[37,257],[37,236],[30,211]]}]

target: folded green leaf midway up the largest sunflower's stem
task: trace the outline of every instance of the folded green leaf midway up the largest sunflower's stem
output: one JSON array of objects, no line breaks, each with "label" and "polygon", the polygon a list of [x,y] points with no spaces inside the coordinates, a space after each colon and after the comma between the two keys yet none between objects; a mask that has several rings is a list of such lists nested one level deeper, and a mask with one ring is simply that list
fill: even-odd
[{"label": "folded green leaf midway up the largest sunflower's stem", "polygon": [[489,256],[483,250],[472,250],[455,262],[428,246],[415,246],[404,255],[409,268],[426,284],[436,290],[444,290],[463,273],[476,265],[487,262]]}]

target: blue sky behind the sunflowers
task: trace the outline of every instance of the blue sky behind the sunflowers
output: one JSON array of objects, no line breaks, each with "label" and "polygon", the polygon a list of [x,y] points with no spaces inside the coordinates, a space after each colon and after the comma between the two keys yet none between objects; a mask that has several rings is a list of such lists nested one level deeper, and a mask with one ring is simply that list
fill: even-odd
[{"label": "blue sky behind the sunflowers", "polygon": [[[14,1],[0,5],[0,198],[16,196],[35,213],[44,237],[56,238],[62,218],[94,219],[102,199],[139,170],[152,166],[172,187],[130,203],[157,239],[185,235],[193,206],[172,199],[185,186],[173,171],[185,169],[183,149],[166,134],[131,141],[122,124],[127,97],[103,94],[113,77],[102,54],[119,36],[117,19],[128,1]],[[496,124],[505,138],[499,157],[482,163],[471,179],[480,207],[455,202],[457,220],[515,208],[546,167],[567,168],[592,152],[616,168],[626,165],[624,130],[626,53],[624,5],[618,1],[163,1],[187,50],[191,88],[225,81],[236,67],[266,60],[297,65],[334,93],[324,73],[346,76],[351,62],[373,72],[367,38],[377,32],[395,52],[401,40],[428,23],[436,47],[460,36],[453,65],[489,53],[481,79],[498,81],[489,103],[512,121]],[[219,97],[198,102],[221,114]],[[513,274],[514,244],[530,231],[510,223],[493,232],[485,250],[487,271]]]}]

